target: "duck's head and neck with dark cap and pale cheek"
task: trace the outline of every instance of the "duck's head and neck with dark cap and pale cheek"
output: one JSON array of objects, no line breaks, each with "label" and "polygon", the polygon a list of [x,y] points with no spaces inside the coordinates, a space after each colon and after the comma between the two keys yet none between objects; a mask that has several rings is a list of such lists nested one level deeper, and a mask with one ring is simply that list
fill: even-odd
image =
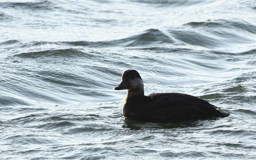
[{"label": "duck's head and neck with dark cap and pale cheek", "polygon": [[143,95],[144,85],[140,74],[136,70],[126,70],[122,74],[122,80],[115,90],[127,89],[128,95]]}]

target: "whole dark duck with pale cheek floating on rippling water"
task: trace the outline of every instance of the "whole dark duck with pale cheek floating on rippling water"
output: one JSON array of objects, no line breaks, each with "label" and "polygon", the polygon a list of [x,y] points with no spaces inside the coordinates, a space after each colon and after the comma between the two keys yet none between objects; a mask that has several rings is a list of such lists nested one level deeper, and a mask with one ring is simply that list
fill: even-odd
[{"label": "whole dark duck with pale cheek floating on rippling water", "polygon": [[228,117],[208,101],[184,93],[156,93],[144,95],[144,84],[139,72],[129,69],[114,90],[127,90],[122,112],[127,120],[142,122],[183,122]]}]

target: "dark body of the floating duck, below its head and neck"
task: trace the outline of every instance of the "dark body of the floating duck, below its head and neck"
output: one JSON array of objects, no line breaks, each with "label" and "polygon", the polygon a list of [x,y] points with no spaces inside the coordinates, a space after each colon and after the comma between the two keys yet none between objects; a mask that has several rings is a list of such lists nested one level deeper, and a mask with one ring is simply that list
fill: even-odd
[{"label": "dark body of the floating duck, below its head and neck", "polygon": [[123,115],[129,120],[146,122],[181,122],[227,116],[207,101],[181,93],[126,97]]}]

